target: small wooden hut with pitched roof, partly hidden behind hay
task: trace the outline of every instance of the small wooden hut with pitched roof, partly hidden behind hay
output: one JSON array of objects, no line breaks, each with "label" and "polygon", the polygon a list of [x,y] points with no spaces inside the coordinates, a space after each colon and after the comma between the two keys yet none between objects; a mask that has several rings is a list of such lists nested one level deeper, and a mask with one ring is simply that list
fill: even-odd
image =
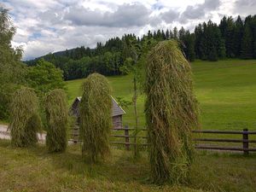
[{"label": "small wooden hut with pitched roof, partly hidden behind hay", "polygon": [[[81,102],[81,96],[77,97],[70,108],[70,113],[77,118],[77,124],[79,124],[79,103]],[[119,106],[119,104],[114,100],[113,96],[112,98],[112,120],[113,120],[113,129],[119,129],[122,128],[122,117],[123,114],[125,114],[125,111],[123,108]],[[74,130],[72,132],[73,141],[77,141],[79,138],[79,126],[75,126]]]}]

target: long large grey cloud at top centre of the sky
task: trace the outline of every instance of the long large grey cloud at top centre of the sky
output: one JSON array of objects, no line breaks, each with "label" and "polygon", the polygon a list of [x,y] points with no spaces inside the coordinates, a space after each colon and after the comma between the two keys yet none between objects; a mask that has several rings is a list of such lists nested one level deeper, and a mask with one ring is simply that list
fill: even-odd
[{"label": "long large grey cloud at top centre of the sky", "polygon": [[141,3],[122,4],[114,12],[71,7],[64,16],[78,26],[144,26],[149,22],[150,11]]}]

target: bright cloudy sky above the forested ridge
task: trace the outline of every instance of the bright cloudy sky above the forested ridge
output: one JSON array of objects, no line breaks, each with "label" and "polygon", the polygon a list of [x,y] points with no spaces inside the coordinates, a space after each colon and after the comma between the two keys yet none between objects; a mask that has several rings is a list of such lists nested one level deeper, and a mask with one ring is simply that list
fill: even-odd
[{"label": "bright cloudy sky above the forested ridge", "polygon": [[0,0],[23,46],[23,59],[148,30],[219,22],[224,15],[255,15],[256,0]]}]

